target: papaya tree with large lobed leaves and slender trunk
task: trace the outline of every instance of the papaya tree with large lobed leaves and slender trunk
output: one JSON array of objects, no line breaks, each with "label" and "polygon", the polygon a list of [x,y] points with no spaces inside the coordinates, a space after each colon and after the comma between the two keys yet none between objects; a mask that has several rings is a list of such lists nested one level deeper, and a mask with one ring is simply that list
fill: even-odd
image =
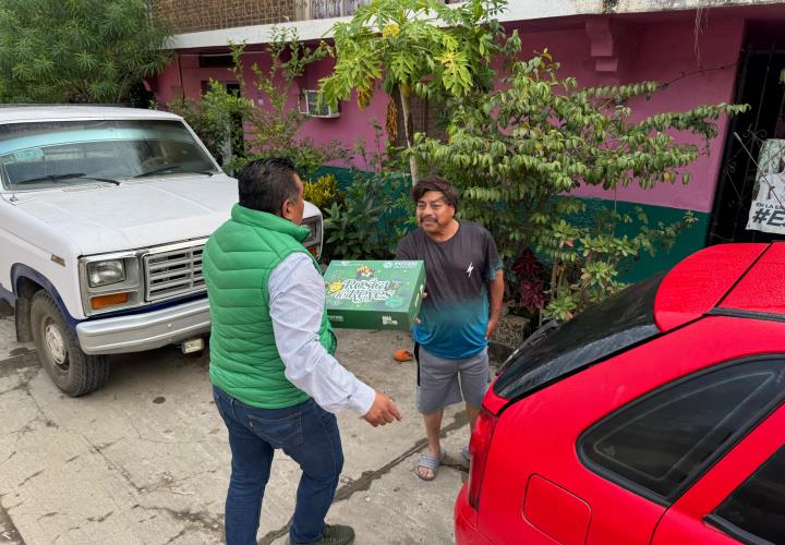
[{"label": "papaya tree with large lobed leaves and slender trunk", "polygon": [[[364,108],[382,82],[388,95],[399,94],[411,147],[412,95],[464,97],[492,87],[491,61],[503,49],[498,40],[504,36],[494,16],[505,5],[505,0],[468,0],[457,7],[437,0],[373,0],[350,22],[334,25],[336,65],[321,81],[321,96],[336,106],[355,90]],[[519,48],[518,35],[504,47]],[[416,183],[413,159],[410,169]]]}]

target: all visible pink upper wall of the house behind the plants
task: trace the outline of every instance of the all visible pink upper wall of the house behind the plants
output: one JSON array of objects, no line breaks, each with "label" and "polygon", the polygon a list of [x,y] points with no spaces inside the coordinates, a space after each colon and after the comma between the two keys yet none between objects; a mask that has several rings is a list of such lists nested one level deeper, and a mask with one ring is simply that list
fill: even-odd
[{"label": "all visible pink upper wall of the house behind the plants", "polygon": [[[613,20],[573,17],[547,24],[536,23],[536,26],[531,23],[529,27],[519,25],[519,33],[523,41],[523,57],[547,48],[561,63],[561,75],[576,76],[582,86],[645,80],[669,82],[688,74],[650,101],[640,99],[631,102],[635,118],[640,119],[656,112],[681,111],[703,104],[730,102],[744,26],[744,19],[737,15],[723,17],[722,12],[712,14],[699,36],[700,63],[693,47],[693,12],[639,14]],[[194,55],[183,56],[180,66],[174,62],[158,76],[156,94],[161,104],[166,104],[180,87],[180,72],[185,96],[191,98],[200,95],[201,82],[210,76],[225,82],[232,80],[227,69],[200,69],[197,60]],[[244,57],[246,66],[254,60],[263,65],[269,62],[261,53]],[[329,74],[331,62],[331,59],[325,59],[309,66],[309,72],[300,82],[303,88],[315,88],[319,77]],[[246,74],[247,81],[251,81],[250,69]],[[292,104],[294,100],[295,96],[292,96]],[[311,119],[304,125],[303,135],[317,143],[339,140],[349,149],[361,138],[371,147],[374,140],[372,121],[375,119],[384,124],[386,104],[387,96],[381,90],[377,90],[371,105],[363,111],[358,109],[354,100],[346,101],[341,105],[340,118]],[[662,184],[652,190],[620,187],[616,197],[635,203],[710,211],[726,126],[727,120],[722,119],[718,124],[720,136],[710,145],[710,156],[702,156],[688,168],[692,174],[689,185]],[[681,141],[686,142],[684,138]],[[575,193],[614,197],[612,192],[596,187],[580,187]]]}]

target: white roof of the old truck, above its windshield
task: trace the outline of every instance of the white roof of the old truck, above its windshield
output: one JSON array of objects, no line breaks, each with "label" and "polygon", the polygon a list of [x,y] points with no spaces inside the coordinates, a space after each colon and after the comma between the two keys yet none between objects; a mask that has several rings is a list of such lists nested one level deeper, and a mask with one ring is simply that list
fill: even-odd
[{"label": "white roof of the old truck, above its windshield", "polygon": [[24,121],[64,121],[77,119],[169,119],[180,116],[160,110],[87,105],[3,105],[0,124]]}]

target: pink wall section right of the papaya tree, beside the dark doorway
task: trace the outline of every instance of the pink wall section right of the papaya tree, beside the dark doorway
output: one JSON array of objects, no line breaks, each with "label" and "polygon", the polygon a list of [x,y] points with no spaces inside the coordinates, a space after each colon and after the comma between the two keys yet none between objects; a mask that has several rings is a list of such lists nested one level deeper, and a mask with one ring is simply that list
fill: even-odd
[{"label": "pink wall section right of the papaya tree, beside the dark doorway", "polygon": [[[561,32],[527,33],[523,53],[547,47],[561,63],[561,75],[572,75],[581,86],[627,84],[641,81],[671,82],[667,88],[651,100],[630,101],[632,119],[641,119],[664,111],[684,111],[715,102],[732,102],[736,77],[736,62],[744,35],[744,20],[712,17],[699,38],[701,63],[693,49],[695,20],[689,16],[664,21],[630,19],[614,21],[613,48],[607,49],[607,36],[592,35],[584,28]],[[613,55],[606,55],[612,52]],[[594,53],[594,57],[592,57]],[[597,55],[600,53],[600,55]],[[616,64],[615,70],[613,64]],[[599,70],[604,69],[604,70]],[[703,72],[699,72],[700,70]],[[716,70],[720,69],[720,70]],[[633,203],[669,206],[709,213],[725,143],[727,119],[718,124],[720,136],[710,144],[710,155],[701,156],[686,170],[692,175],[688,185],[661,184],[642,190],[637,185],[619,187],[614,192],[595,186],[582,186],[573,192],[581,196],[616,198]],[[703,142],[686,135],[678,142]]]}]

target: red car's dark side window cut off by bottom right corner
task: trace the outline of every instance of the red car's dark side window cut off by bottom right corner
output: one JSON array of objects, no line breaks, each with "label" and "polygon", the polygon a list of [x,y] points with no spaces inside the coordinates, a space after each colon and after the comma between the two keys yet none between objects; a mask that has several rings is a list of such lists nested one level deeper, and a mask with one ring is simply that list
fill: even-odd
[{"label": "red car's dark side window cut off by bottom right corner", "polygon": [[741,483],[706,520],[745,543],[785,543],[785,447]]}]

